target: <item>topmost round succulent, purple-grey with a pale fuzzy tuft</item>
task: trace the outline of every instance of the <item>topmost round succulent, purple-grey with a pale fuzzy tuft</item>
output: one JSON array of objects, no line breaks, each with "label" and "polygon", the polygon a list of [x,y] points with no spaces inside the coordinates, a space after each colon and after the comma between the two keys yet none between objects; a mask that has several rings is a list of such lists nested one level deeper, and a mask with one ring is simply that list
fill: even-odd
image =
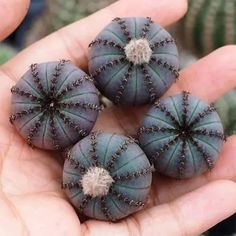
[{"label": "topmost round succulent, purple-grey with a pale fuzzy tuft", "polygon": [[150,18],[116,18],[89,46],[89,71],[115,104],[154,102],[178,77],[174,40]]}]

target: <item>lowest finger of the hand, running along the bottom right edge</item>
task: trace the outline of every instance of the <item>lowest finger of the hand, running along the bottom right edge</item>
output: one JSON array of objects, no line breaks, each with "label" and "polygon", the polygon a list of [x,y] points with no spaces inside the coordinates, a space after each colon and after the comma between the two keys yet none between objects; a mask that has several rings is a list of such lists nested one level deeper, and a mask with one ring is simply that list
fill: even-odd
[{"label": "lowest finger of the hand, running along the bottom right edge", "polygon": [[118,224],[87,221],[83,235],[199,235],[236,212],[236,183],[216,181]]}]

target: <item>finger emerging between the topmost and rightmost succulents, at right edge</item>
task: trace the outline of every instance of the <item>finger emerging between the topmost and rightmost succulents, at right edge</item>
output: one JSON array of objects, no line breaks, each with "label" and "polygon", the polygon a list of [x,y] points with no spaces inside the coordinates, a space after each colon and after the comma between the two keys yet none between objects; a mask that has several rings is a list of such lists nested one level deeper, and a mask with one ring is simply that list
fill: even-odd
[{"label": "finger emerging between the topmost and rightmost succulents, at right edge", "polygon": [[186,90],[209,102],[236,87],[236,46],[222,47],[183,69],[165,96]]}]

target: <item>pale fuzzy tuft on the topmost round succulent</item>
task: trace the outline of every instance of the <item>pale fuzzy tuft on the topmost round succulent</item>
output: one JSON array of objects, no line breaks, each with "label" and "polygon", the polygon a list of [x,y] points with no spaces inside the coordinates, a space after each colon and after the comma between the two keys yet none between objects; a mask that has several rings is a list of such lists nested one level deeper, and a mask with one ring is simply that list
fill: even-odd
[{"label": "pale fuzzy tuft on the topmost round succulent", "polygon": [[152,49],[147,39],[132,39],[125,46],[125,55],[127,60],[134,63],[134,65],[141,65],[150,61]]}]

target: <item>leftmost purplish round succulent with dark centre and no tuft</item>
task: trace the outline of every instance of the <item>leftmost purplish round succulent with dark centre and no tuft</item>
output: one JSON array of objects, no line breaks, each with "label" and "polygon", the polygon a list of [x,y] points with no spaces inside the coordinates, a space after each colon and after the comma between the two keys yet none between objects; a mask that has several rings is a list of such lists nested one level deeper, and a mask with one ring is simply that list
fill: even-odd
[{"label": "leftmost purplish round succulent with dark centre and no tuft", "polygon": [[29,145],[57,150],[88,135],[96,121],[96,88],[68,61],[33,64],[11,89],[13,123]]}]

